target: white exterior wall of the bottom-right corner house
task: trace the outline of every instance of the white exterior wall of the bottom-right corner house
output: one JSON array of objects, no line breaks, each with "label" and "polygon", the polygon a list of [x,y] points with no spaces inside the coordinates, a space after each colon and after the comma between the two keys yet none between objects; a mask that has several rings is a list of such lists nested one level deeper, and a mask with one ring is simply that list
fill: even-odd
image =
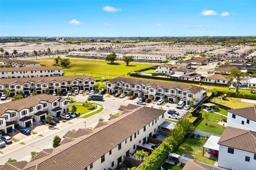
[{"label": "white exterior wall of the bottom-right corner house", "polygon": [[[245,156],[250,157],[250,162],[245,161]],[[229,154],[228,147],[220,145],[218,166],[227,169],[255,170],[256,160],[253,158],[254,153],[252,152],[234,149],[234,154]]]}]

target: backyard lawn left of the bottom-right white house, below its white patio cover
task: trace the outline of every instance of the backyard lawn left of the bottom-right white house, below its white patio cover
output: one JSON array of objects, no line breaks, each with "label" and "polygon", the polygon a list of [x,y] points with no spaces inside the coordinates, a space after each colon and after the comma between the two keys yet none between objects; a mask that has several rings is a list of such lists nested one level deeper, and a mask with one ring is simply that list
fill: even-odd
[{"label": "backyard lawn left of the bottom-right white house, below its white patio cover", "polygon": [[196,160],[213,165],[215,163],[214,159],[209,159],[203,156],[203,146],[206,141],[207,139],[205,138],[201,140],[197,138],[185,139],[179,148],[174,152],[181,156],[185,154],[191,154],[194,155]]}]

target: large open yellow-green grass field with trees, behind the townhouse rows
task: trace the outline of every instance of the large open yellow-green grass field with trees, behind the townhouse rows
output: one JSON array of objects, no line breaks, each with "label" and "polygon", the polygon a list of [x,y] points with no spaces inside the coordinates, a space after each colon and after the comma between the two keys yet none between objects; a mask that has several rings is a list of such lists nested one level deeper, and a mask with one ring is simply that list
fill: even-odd
[{"label": "large open yellow-green grass field with trees, behind the townhouse rows", "polygon": [[[39,60],[34,60],[40,62],[41,64],[45,64],[51,66],[54,64],[53,58],[42,58]],[[147,67],[153,65],[146,64],[130,64],[126,66],[125,63],[115,63],[110,64],[106,61],[92,61],[92,60],[76,60],[70,59],[70,68],[63,69],[65,71],[65,75],[93,75],[95,79],[97,78],[114,78],[121,75],[127,75],[128,72],[132,72],[134,70],[145,69]]]}]

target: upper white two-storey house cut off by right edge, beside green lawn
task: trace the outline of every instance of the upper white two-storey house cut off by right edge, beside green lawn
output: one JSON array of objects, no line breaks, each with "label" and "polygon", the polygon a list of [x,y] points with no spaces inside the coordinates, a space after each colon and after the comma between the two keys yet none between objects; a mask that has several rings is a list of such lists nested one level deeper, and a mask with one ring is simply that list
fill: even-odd
[{"label": "upper white two-storey house cut off by right edge, beside green lawn", "polygon": [[256,131],[256,106],[229,109],[227,125],[234,128]]}]

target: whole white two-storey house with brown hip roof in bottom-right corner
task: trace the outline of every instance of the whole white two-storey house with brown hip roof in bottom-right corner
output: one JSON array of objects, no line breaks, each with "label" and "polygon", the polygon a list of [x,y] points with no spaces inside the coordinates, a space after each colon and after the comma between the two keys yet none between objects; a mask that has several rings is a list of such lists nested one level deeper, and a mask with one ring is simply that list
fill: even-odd
[{"label": "whole white two-storey house with brown hip roof in bottom-right corner", "polygon": [[[246,110],[245,110],[246,111]],[[255,111],[254,111],[255,114]],[[229,122],[228,117],[228,122]],[[254,126],[255,129],[256,126]],[[254,170],[256,131],[227,126],[219,144],[218,166],[226,169]]]}]

